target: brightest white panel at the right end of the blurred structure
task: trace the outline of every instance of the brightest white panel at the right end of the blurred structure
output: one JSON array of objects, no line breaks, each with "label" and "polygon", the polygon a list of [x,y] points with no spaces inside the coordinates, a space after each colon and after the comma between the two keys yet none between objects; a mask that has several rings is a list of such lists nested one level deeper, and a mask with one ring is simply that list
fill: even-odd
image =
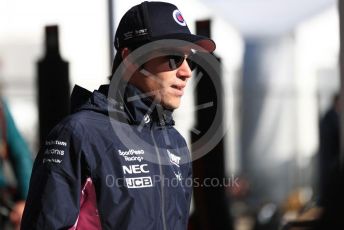
[{"label": "brightest white panel at the right end of the blurred structure", "polygon": [[299,162],[317,152],[318,121],[339,90],[338,58],[339,18],[333,6],[295,30]]}]

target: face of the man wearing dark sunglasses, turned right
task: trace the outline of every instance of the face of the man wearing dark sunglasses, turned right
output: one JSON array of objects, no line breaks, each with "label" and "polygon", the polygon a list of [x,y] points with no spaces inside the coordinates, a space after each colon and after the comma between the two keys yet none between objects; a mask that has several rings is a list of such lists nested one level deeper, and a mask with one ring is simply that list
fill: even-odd
[{"label": "face of the man wearing dark sunglasses, turned right", "polygon": [[130,83],[166,109],[176,109],[192,75],[185,59],[188,54],[189,52],[182,49],[162,52],[158,57],[146,62],[139,73],[132,76]]}]

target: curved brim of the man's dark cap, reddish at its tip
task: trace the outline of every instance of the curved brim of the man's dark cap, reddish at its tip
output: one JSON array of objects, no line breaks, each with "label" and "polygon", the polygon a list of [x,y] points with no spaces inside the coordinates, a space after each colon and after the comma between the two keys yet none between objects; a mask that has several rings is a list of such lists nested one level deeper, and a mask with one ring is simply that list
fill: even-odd
[{"label": "curved brim of the man's dark cap, reddish at its tip", "polygon": [[[201,47],[200,51],[207,51],[207,52],[214,52],[216,49],[216,44],[210,38],[194,35],[194,34],[186,34],[186,33],[178,33],[178,34],[168,34],[160,37],[154,37],[153,40],[162,40],[162,39],[178,39],[187,42],[194,43],[195,45]],[[197,49],[197,46],[193,47]]]}]

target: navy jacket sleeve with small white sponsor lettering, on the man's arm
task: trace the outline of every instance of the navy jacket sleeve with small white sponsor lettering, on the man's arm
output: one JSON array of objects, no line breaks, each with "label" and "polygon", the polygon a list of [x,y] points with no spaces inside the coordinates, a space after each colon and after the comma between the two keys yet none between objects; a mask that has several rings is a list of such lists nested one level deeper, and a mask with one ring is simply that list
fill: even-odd
[{"label": "navy jacket sleeve with small white sponsor lettering, on the man's arm", "polygon": [[77,219],[83,164],[75,127],[60,124],[49,134],[33,166],[21,229],[69,229]]}]

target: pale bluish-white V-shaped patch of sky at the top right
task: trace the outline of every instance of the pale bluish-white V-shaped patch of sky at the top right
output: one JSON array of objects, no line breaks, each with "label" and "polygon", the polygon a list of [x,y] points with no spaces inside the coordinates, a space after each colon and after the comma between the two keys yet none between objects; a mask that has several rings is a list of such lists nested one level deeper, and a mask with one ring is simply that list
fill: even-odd
[{"label": "pale bluish-white V-shaped patch of sky at the top right", "polygon": [[336,0],[201,0],[244,37],[275,36],[336,4]]}]

